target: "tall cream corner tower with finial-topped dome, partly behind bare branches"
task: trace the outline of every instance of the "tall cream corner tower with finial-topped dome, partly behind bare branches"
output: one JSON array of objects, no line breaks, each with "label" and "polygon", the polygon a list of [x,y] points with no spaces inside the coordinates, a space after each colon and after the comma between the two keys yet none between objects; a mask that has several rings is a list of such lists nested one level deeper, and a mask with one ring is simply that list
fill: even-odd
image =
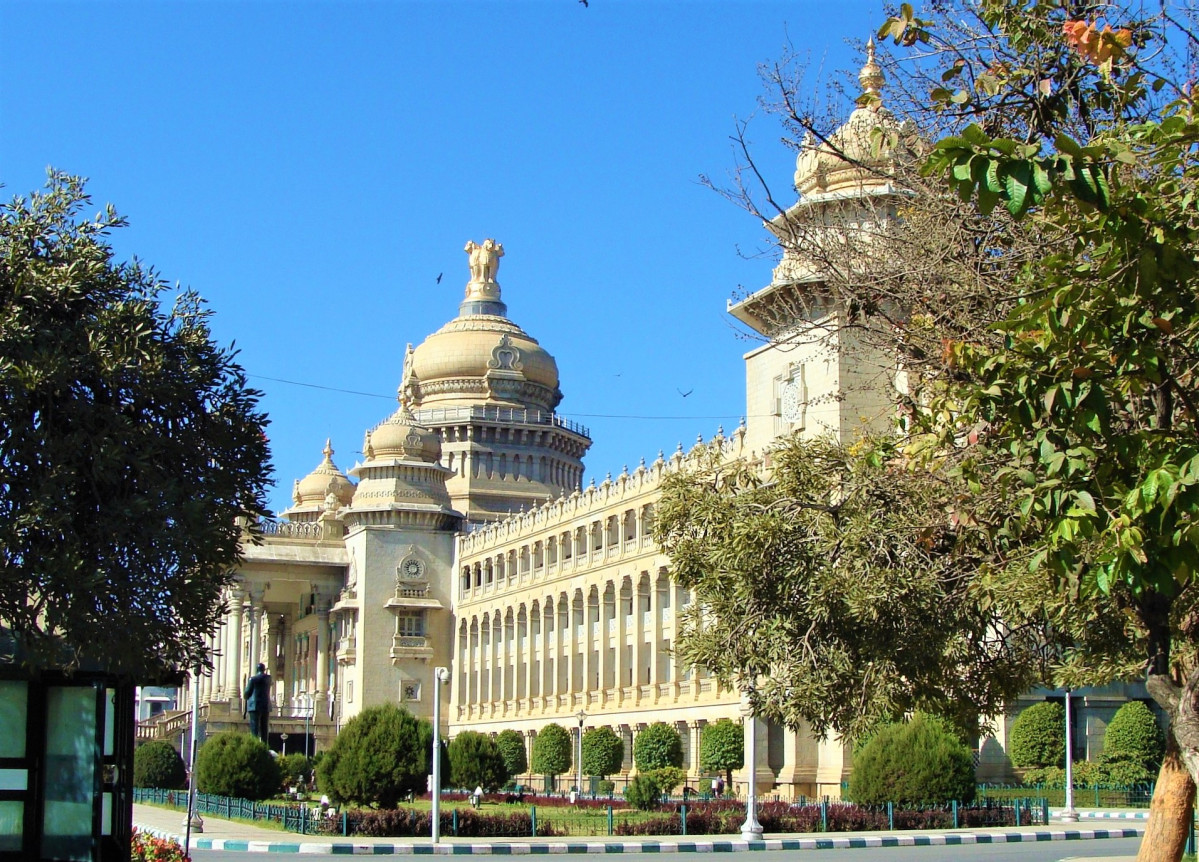
[{"label": "tall cream corner tower with finial-topped dome, partly behind bare branches", "polygon": [[850,440],[863,427],[885,433],[894,424],[897,357],[860,321],[849,325],[830,285],[878,282],[885,263],[878,237],[910,197],[896,179],[899,159],[918,141],[882,103],[873,40],[857,80],[862,96],[845,122],[823,140],[802,141],[799,200],[766,224],[783,252],[771,283],[729,302],[729,313],[765,339],[745,355],[751,451],[796,432]]}]

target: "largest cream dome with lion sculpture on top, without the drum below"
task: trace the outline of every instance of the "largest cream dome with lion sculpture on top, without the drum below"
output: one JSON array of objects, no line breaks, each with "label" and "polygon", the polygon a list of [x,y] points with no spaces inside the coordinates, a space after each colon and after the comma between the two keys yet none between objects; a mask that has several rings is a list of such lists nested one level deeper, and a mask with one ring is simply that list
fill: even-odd
[{"label": "largest cream dome with lion sculpture on top, without the drum below", "polygon": [[504,246],[468,242],[471,279],[458,317],[409,348],[400,397],[414,409],[496,405],[553,410],[558,363],[507,318],[495,281]]}]

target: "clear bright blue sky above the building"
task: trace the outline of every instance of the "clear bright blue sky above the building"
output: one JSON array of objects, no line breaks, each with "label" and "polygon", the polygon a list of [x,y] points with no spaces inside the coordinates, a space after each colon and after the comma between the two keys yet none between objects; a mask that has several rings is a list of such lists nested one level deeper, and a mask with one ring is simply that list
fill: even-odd
[{"label": "clear bright blue sky above the building", "polygon": [[[457,313],[463,245],[493,236],[601,481],[743,415],[754,344],[725,300],[772,264],[742,257],[761,228],[698,176],[733,168],[759,64],[790,42],[817,86],[882,18],[879,0],[0,0],[0,182],[90,177],[131,221],[119,255],[209,301],[265,392],[275,510],[326,436],[343,470],[359,458],[405,345]],[[790,203],[779,135],[751,125]]]}]

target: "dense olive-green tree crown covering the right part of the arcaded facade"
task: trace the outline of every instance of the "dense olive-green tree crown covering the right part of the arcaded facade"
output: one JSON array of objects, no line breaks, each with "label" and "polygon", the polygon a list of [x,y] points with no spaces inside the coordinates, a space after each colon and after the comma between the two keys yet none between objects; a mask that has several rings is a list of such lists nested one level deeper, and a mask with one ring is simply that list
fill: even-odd
[{"label": "dense olive-green tree crown covering the right part of the arcaded facade", "polygon": [[679,655],[759,716],[848,737],[916,710],[977,728],[1040,676],[1041,629],[980,601],[996,549],[960,481],[894,446],[790,438],[770,482],[693,451],[664,481],[655,535],[695,596]]}]

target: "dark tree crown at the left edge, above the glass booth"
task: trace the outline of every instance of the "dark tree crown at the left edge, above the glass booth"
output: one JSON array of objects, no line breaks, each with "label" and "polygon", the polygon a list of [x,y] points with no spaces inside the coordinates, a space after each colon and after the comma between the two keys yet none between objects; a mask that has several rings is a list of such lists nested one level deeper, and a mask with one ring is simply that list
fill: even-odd
[{"label": "dark tree crown at the left edge, above the glass booth", "polygon": [[47,665],[193,667],[265,514],[266,417],[200,297],[115,260],[90,204],[52,171],[0,206],[0,625]]}]

